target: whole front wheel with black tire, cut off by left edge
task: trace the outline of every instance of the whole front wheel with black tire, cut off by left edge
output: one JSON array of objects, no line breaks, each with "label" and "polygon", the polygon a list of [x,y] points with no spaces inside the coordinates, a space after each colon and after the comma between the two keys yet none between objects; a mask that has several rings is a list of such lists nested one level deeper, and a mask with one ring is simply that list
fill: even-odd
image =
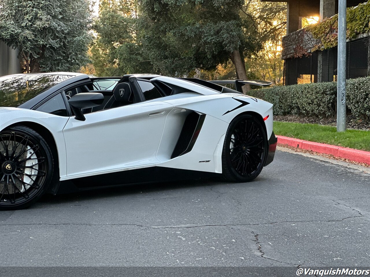
[{"label": "whole front wheel with black tire, cut off by left edge", "polygon": [[47,190],[53,155],[43,137],[26,126],[0,132],[0,211],[24,209]]}]

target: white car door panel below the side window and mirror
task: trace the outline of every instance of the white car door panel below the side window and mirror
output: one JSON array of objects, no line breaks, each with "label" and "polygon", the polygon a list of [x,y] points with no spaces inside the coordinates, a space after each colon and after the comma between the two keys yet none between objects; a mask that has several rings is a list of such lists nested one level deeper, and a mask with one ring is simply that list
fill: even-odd
[{"label": "white car door panel below the side window and mirror", "polygon": [[63,133],[67,176],[88,176],[158,163],[156,158],[166,115],[173,105],[140,102],[70,117]]}]

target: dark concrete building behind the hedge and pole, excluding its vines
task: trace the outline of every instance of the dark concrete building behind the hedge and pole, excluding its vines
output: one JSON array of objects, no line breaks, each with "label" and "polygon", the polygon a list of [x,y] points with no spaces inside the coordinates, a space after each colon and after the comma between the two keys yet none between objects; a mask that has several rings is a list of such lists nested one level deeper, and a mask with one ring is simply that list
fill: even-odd
[{"label": "dark concrete building behind the hedge and pole, excluding its vines", "polygon": [[[302,29],[302,18],[332,17],[338,13],[338,0],[260,0],[287,3],[287,34],[282,41],[284,84],[336,81],[337,47],[324,51],[310,50],[317,42],[312,34]],[[354,7],[363,0],[347,0],[347,7]],[[370,72],[369,34],[361,34],[347,42],[347,79],[368,76]],[[309,55],[296,57],[302,48]]]}]

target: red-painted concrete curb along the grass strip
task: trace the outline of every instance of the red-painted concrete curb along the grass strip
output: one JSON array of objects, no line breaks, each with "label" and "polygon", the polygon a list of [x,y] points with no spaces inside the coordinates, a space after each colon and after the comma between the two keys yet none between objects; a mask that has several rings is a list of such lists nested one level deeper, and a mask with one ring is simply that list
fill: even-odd
[{"label": "red-painted concrete curb along the grass strip", "polygon": [[313,152],[330,154],[334,157],[356,161],[358,163],[366,163],[370,165],[370,152],[356,150],[352,148],[344,148],[341,146],[317,143],[312,141],[300,140],[298,138],[276,136],[278,144],[287,144],[295,148],[311,150]]}]

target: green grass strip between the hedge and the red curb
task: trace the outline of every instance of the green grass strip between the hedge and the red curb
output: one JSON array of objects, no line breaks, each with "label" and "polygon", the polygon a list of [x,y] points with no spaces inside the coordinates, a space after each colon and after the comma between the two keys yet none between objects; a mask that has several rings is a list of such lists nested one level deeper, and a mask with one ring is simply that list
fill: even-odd
[{"label": "green grass strip between the hedge and the red curb", "polygon": [[370,151],[370,131],[347,130],[343,133],[337,133],[336,127],[332,126],[275,121],[274,133],[301,140]]}]

